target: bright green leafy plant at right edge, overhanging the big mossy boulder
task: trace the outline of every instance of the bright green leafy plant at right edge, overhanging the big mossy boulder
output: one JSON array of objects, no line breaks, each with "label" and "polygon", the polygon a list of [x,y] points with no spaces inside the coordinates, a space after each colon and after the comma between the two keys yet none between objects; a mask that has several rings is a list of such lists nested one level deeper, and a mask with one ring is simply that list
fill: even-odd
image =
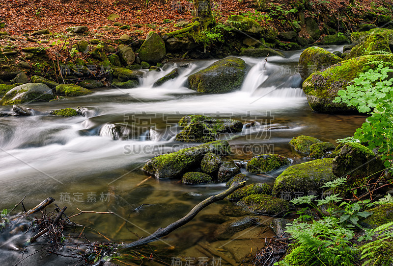
[{"label": "bright green leafy plant at right edge, overhanging the big mossy boulder", "polygon": [[370,150],[378,147],[386,167],[391,167],[389,160],[393,159],[393,78],[387,79],[390,72],[393,70],[379,64],[375,70],[360,73],[347,90],[338,91],[334,100],[371,115],[356,129],[354,138],[367,143]]}]

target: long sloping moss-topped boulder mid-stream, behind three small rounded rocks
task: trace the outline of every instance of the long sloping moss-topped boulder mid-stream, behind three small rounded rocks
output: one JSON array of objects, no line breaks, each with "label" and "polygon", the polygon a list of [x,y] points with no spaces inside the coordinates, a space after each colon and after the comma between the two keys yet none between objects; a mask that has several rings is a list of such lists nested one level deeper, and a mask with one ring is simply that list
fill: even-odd
[{"label": "long sloping moss-topped boulder mid-stream, behind three small rounded rocks", "polygon": [[230,153],[230,147],[223,140],[181,149],[152,158],[142,170],[157,178],[180,177],[190,169],[199,167],[203,156],[209,152],[224,156]]}]

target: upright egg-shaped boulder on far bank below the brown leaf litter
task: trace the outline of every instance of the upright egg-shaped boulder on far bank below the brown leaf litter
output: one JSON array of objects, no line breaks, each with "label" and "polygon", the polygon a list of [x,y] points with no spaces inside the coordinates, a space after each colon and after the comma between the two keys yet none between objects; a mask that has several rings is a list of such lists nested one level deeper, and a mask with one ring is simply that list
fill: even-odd
[{"label": "upright egg-shaped boulder on far bank below the brown leaf litter", "polygon": [[157,33],[150,31],[138,53],[140,60],[157,64],[166,54],[165,43]]}]

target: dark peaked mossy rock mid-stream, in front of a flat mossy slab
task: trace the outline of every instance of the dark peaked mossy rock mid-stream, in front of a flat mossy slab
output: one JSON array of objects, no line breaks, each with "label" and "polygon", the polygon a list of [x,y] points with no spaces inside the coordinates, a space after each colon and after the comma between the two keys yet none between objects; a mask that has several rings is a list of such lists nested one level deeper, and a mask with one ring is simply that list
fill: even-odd
[{"label": "dark peaked mossy rock mid-stream, in front of a flat mossy slab", "polygon": [[176,135],[175,140],[181,142],[211,142],[215,141],[217,131],[206,126],[202,121],[186,126],[180,133]]}]

